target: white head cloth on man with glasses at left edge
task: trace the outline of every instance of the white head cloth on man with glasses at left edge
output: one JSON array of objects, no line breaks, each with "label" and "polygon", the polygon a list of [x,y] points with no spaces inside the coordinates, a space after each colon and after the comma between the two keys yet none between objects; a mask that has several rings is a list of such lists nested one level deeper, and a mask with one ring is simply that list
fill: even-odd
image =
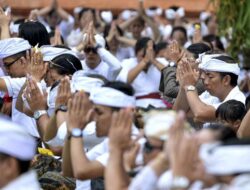
[{"label": "white head cloth on man with glasses at left edge", "polygon": [[0,40],[0,59],[10,57],[31,48],[27,40],[23,38],[8,38]]}]

